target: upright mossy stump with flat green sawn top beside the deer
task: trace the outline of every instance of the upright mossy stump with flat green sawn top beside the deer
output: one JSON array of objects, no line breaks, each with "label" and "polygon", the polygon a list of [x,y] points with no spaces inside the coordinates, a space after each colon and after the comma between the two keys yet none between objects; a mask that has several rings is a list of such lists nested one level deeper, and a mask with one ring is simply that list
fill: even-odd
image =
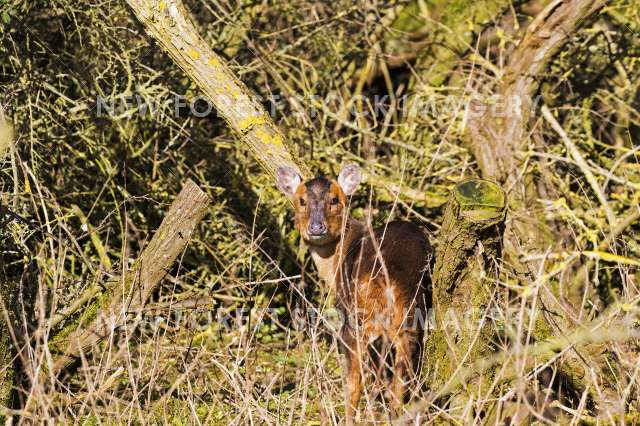
[{"label": "upright mossy stump with flat green sawn top beside the deer", "polygon": [[[435,330],[425,356],[434,391],[449,387],[465,367],[491,351],[494,328],[486,315],[497,299],[494,265],[506,204],[504,191],[485,180],[462,182],[451,193],[432,277]],[[483,379],[471,382],[482,385]]]}]

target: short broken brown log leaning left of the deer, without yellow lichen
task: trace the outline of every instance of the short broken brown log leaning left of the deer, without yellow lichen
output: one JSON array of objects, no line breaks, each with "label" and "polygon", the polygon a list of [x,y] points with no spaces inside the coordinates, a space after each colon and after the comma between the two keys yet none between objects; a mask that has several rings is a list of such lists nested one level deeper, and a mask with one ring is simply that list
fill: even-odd
[{"label": "short broken brown log leaning left of the deer, without yellow lichen", "polygon": [[188,180],[131,270],[50,342],[52,351],[59,354],[54,373],[113,334],[127,317],[141,312],[151,292],[185,249],[208,206],[207,194]]}]

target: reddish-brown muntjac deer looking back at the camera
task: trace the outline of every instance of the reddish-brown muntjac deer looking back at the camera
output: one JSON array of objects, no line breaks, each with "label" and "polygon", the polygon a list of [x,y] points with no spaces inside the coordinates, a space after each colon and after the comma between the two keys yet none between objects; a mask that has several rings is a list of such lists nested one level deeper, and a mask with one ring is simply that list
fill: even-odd
[{"label": "reddish-brown muntjac deer looking back at the camera", "polygon": [[[430,287],[427,236],[409,222],[367,229],[353,219],[347,197],[360,184],[356,165],[346,166],[337,181],[321,176],[303,183],[293,169],[284,167],[277,178],[293,202],[296,226],[320,278],[335,290],[343,316],[339,340],[346,357],[346,423],[355,420],[365,360],[375,358],[374,351],[382,345],[391,356],[388,393],[399,408],[417,381],[422,358]],[[373,371],[379,374],[381,368],[379,364]]]}]

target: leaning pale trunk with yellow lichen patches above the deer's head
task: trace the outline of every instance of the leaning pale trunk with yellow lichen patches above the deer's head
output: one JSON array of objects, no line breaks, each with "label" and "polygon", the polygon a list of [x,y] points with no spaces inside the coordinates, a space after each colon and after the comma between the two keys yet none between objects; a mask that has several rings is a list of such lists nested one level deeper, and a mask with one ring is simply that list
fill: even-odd
[{"label": "leaning pale trunk with yellow lichen patches above the deer's head", "polygon": [[207,95],[218,114],[245,142],[275,182],[276,170],[289,166],[308,176],[295,161],[271,117],[225,61],[198,35],[181,0],[127,0],[147,32]]}]

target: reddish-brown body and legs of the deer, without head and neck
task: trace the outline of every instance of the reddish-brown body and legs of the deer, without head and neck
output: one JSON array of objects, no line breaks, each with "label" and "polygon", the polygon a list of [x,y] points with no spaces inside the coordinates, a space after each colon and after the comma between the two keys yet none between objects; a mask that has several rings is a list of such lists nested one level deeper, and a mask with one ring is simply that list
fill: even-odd
[{"label": "reddish-brown body and legs of the deer, without head and neck", "polygon": [[[363,363],[370,345],[391,349],[390,399],[397,408],[416,383],[427,316],[431,248],[422,230],[391,222],[351,242],[341,267],[336,304],[345,317],[341,331],[347,360],[347,418],[357,410]],[[385,349],[378,362],[385,362]],[[381,365],[374,366],[381,371]],[[378,373],[379,374],[379,373]]]}]

